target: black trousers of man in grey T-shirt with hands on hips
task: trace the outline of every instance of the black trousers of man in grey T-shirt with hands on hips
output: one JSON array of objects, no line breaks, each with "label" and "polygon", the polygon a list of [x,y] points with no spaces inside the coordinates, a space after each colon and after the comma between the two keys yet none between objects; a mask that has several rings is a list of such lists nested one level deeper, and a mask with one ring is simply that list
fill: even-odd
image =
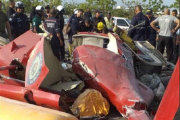
[{"label": "black trousers of man in grey T-shirt with hands on hips", "polygon": [[167,61],[171,62],[172,54],[173,54],[173,38],[166,37],[166,36],[159,36],[157,49],[164,53],[164,48],[166,46],[166,53],[167,53]]}]

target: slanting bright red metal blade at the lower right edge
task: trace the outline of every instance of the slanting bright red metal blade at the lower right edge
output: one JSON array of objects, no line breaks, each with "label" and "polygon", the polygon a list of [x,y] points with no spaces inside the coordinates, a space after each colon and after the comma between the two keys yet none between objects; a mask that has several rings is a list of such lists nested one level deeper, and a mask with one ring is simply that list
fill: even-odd
[{"label": "slanting bright red metal blade at the lower right edge", "polygon": [[178,60],[176,64],[154,120],[174,119],[174,116],[179,107],[179,62],[180,60]]}]

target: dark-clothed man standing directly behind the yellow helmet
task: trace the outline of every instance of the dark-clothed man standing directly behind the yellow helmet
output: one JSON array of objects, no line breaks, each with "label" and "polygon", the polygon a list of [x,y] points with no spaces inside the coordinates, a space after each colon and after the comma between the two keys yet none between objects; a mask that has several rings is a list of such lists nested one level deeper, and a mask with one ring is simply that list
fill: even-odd
[{"label": "dark-clothed man standing directly behind the yellow helmet", "polygon": [[92,24],[93,24],[93,29],[97,29],[97,24],[99,22],[102,22],[106,26],[106,22],[103,17],[101,17],[101,12],[99,10],[95,11],[95,17],[92,18]]}]

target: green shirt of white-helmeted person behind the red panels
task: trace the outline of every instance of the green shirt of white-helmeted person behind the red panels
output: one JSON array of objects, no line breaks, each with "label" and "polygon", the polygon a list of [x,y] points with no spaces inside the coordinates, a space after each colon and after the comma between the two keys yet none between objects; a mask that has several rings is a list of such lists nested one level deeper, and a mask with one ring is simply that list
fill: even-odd
[{"label": "green shirt of white-helmeted person behind the red panels", "polygon": [[32,20],[32,27],[36,27],[37,33],[43,33],[43,30],[39,27],[41,25],[41,21],[42,19],[38,15],[35,15]]}]

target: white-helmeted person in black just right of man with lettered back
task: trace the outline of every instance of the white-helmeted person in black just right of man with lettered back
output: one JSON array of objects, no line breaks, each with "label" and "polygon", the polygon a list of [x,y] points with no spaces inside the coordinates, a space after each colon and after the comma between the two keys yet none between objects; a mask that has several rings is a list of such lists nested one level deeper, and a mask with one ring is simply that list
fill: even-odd
[{"label": "white-helmeted person in black just right of man with lettered back", "polygon": [[[64,43],[64,35],[63,35],[63,28],[64,28],[64,17],[63,15],[65,14],[65,9],[62,5],[57,6],[57,15],[56,15],[56,19],[58,19],[59,23],[60,23],[60,33],[61,33],[61,37]],[[63,46],[60,47],[60,60],[64,60],[65,59],[65,44],[63,44]]]}]

